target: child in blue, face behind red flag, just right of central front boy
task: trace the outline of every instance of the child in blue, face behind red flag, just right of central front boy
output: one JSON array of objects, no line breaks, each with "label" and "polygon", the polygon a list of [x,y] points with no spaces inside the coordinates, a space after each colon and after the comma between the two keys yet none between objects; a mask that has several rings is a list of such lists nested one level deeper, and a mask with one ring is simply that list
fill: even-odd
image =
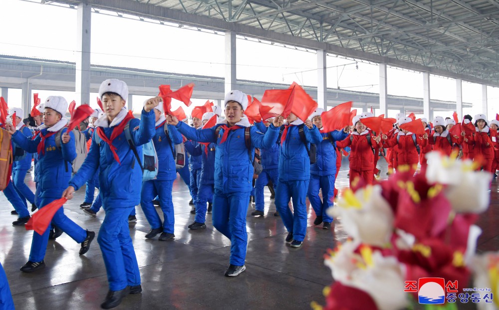
[{"label": "child in blue, face behind red flag, just right of central front boy", "polygon": [[[281,135],[275,208],[288,231],[286,242],[290,242],[293,248],[299,248],[307,231],[305,199],[310,181],[310,158],[307,149],[310,148],[310,143],[319,144],[322,137],[317,127],[308,119],[303,123],[296,115],[290,113],[286,120],[287,125]],[[305,141],[299,134],[301,129]],[[293,213],[288,206],[290,198],[293,199]]]}]

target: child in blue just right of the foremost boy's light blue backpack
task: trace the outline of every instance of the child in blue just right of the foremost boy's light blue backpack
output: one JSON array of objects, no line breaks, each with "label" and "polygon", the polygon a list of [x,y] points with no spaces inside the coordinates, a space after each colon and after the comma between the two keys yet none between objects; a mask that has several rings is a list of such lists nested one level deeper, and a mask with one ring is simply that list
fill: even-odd
[{"label": "child in blue just right of the foremost boy's light blue backpack", "polygon": [[[175,237],[172,188],[173,181],[177,178],[177,171],[173,152],[175,144],[182,143],[182,135],[175,129],[175,126],[168,124],[166,121],[163,104],[159,104],[154,108],[154,114],[156,133],[153,142],[158,154],[159,170],[156,179],[142,183],[140,205],[149,225],[151,225],[151,230],[146,234],[146,238],[154,238],[161,233],[159,240],[165,241],[172,240]],[[159,196],[160,207],[163,211],[163,223],[161,223],[158,212],[156,212],[152,203],[156,196]]]}]

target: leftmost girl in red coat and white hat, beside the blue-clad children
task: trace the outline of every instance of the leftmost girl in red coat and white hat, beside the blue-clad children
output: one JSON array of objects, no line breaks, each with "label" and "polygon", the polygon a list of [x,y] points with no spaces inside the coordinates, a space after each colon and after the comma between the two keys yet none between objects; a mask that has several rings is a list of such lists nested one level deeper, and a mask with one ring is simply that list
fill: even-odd
[{"label": "leftmost girl in red coat and white hat, beside the blue-clad children", "polygon": [[356,115],[352,123],[354,131],[343,141],[336,142],[338,148],[350,147],[350,187],[352,182],[361,178],[366,184],[372,184],[374,174],[374,150],[379,147],[380,136],[373,136],[361,122],[361,115]]}]

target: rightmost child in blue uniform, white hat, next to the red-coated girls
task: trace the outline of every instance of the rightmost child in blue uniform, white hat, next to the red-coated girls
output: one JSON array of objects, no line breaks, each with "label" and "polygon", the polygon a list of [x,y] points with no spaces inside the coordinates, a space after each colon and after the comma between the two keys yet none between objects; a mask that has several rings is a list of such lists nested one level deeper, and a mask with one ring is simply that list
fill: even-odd
[{"label": "rightmost child in blue uniform, white hat, next to the red-coated girls", "polygon": [[[310,115],[314,125],[322,129],[321,114],[324,109],[317,108]],[[310,165],[310,183],[308,185],[308,200],[315,211],[314,225],[322,225],[323,229],[331,229],[333,218],[326,211],[333,206],[334,181],[336,175],[336,141],[341,141],[348,136],[350,126],[342,131],[321,132],[322,141],[316,145],[317,162]],[[322,201],[319,198],[319,190],[322,190]]]}]

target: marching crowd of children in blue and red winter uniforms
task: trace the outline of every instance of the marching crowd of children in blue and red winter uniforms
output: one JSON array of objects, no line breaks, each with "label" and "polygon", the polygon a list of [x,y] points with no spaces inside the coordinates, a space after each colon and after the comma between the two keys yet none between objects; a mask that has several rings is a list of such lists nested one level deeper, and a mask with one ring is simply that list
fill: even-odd
[{"label": "marching crowd of children in blue and red winter uniforms", "polygon": [[[353,117],[351,126],[327,132],[323,130],[321,108],[306,121],[289,113],[285,119],[276,116],[254,122],[253,126],[245,116],[248,96],[233,90],[225,96],[225,117],[220,117],[220,108],[214,107],[213,112],[193,114],[190,126],[186,119],[165,113],[161,97],[146,100],[140,120],[134,118],[125,108],[128,87],[117,79],[102,82],[99,97],[103,111],[94,110],[88,128],[82,131],[88,154],[77,171],[71,168],[76,157],[75,136],[73,131],[67,131],[68,104],[63,97],[50,96],[37,106],[42,117],[35,118],[36,126],[32,129],[18,117],[23,115],[21,109],[10,109],[9,115],[18,115],[16,121],[5,125],[12,137],[14,164],[12,181],[3,192],[14,208],[11,213],[18,216],[12,225],[22,226],[30,219],[28,203],[33,212],[61,197],[71,199],[76,190],[86,185],[80,207],[91,216],[101,207],[105,212],[97,235],[109,282],[108,295],[101,304],[104,309],[114,308],[128,294],[142,291],[128,226],[136,221],[135,207],[140,203],[150,225],[146,238],[160,235],[159,240],[166,241],[175,237],[172,187],[177,172],[189,186],[194,206],[194,220],[188,228],[205,229],[206,214],[212,212],[213,227],[231,241],[225,276],[235,277],[246,270],[250,197],[254,196],[255,202],[251,215],[263,216],[265,186],[275,190],[274,215],[281,217],[288,232],[284,242],[290,247],[299,248],[305,239],[307,197],[316,216],[313,224],[331,228],[333,219],[326,211],[337,195],[340,149],[350,148],[350,186],[359,180],[373,183],[379,176],[376,162],[380,153],[386,154],[390,172],[406,165],[415,173],[418,164],[424,172],[425,154],[432,150],[446,155],[456,151],[464,158],[478,161],[493,174],[499,166],[499,121],[488,121],[484,114],[474,118],[466,115],[463,130],[458,134],[449,131],[456,125],[455,120],[438,116],[431,123],[421,119],[424,134],[410,132],[399,127],[413,121],[402,114],[397,115],[392,130],[374,132],[363,124],[365,118],[374,116],[367,112]],[[214,117],[216,125],[205,128]],[[141,160],[142,146],[150,141],[158,171],[154,179],[142,182],[146,164],[145,159]],[[181,144],[189,154],[184,168],[176,166],[176,145]],[[33,157],[34,194],[24,184]],[[253,167],[258,161],[262,169],[254,180]],[[96,198],[95,188],[99,189]],[[159,205],[162,217],[155,205]],[[20,270],[34,272],[43,268],[48,240],[62,232],[81,244],[80,255],[89,251],[95,237],[95,232],[79,227],[60,208],[44,234],[33,232],[29,259]],[[3,293],[1,296],[7,298]]]}]

